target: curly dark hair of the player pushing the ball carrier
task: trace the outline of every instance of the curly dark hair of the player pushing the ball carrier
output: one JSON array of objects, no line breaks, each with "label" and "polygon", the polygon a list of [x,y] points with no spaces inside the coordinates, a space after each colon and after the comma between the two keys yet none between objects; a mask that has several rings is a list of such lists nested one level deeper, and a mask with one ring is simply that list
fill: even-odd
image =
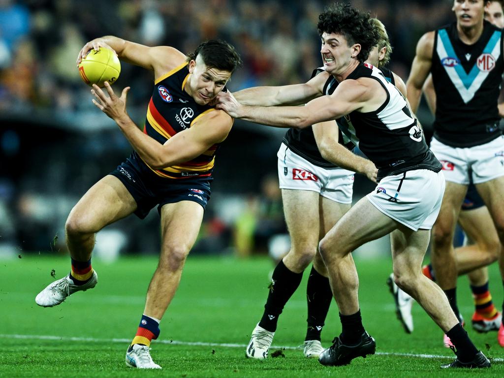
[{"label": "curly dark hair of the player pushing the ball carrier", "polygon": [[361,63],[369,56],[369,51],[380,40],[380,34],[370,22],[369,12],[363,13],[349,3],[336,3],[327,7],[319,16],[319,34],[336,33],[345,36],[348,46],[360,44],[357,58]]}]

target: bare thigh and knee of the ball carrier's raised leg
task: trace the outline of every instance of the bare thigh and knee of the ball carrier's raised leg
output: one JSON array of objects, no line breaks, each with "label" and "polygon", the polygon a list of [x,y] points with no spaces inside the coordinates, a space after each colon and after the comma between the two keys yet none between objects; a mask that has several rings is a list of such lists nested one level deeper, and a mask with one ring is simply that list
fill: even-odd
[{"label": "bare thigh and knee of the ball carrier's raised leg", "polygon": [[74,206],[68,222],[80,232],[97,232],[133,213],[137,204],[122,182],[107,175],[95,183]]}]

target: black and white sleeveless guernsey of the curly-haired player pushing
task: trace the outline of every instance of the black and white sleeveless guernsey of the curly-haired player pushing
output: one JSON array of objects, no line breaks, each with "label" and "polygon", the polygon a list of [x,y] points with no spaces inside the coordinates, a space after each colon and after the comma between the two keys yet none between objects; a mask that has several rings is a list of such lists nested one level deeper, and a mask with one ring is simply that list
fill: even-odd
[{"label": "black and white sleeveless guernsey of the curly-haired player pushing", "polygon": [[387,92],[387,99],[378,109],[352,111],[344,117],[348,128],[345,134],[351,135],[352,142],[376,165],[377,178],[415,169],[439,172],[441,164],[427,147],[401,92],[371,65],[357,66],[347,79],[359,78],[374,79]]}]

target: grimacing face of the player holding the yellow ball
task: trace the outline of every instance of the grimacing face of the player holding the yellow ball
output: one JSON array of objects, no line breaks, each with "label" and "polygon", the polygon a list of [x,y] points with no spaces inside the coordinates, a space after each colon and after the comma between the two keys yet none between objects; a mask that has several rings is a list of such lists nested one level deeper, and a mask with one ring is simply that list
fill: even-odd
[{"label": "grimacing face of the player holding the yellow ball", "polygon": [[189,62],[188,68],[191,76],[184,89],[199,105],[212,101],[231,77],[229,71],[208,68],[200,55]]}]

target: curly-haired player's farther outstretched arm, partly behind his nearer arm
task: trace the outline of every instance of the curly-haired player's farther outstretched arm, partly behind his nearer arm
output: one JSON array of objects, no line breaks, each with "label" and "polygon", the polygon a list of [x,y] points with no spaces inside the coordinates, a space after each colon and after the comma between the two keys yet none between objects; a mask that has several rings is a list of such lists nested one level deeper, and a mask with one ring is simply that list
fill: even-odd
[{"label": "curly-haired player's farther outstretched arm, partly behind his nearer arm", "polygon": [[280,87],[253,87],[233,93],[243,105],[277,106],[299,105],[323,95],[329,74],[322,72],[303,84]]}]

